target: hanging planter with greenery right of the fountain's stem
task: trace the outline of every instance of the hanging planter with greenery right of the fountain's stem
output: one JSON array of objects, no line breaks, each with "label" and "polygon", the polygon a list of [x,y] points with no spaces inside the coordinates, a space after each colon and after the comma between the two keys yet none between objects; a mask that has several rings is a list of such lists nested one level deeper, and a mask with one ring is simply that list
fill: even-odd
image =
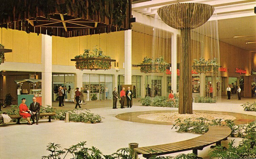
[{"label": "hanging planter with greenery right of the fountain's stem", "polygon": [[199,60],[194,59],[193,69],[198,73],[216,73],[219,71],[219,64],[217,59],[204,60],[204,58],[199,58]]}]

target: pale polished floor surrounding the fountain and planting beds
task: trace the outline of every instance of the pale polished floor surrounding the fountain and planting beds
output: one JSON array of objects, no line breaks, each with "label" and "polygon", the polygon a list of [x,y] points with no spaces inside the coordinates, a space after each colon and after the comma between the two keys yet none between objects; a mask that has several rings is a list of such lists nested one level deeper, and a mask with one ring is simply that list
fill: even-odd
[{"label": "pale polished floor surrounding the fountain and planting beds", "polygon": [[[245,112],[240,106],[247,101],[252,103],[255,100],[255,98],[237,100],[236,96],[233,96],[231,100],[222,99],[221,102],[215,104],[193,103],[193,110],[230,112],[230,115],[232,113],[248,114],[252,115],[250,120],[253,120],[253,117],[256,120],[256,112]],[[74,109],[75,107],[74,103],[66,102],[64,104],[64,107],[58,107],[58,103],[54,102],[53,107],[65,110]],[[103,154],[112,154],[119,148],[128,147],[131,142],[137,142],[139,146],[149,146],[199,136],[198,134],[177,133],[175,129],[171,129],[171,125],[133,122],[129,117],[127,120],[116,118],[118,114],[123,113],[177,111],[177,108],[140,106],[138,99],[134,100],[132,108],[125,109],[120,109],[120,105],[118,105],[119,109],[112,109],[111,100],[89,101],[81,107],[82,109],[90,109],[92,113],[99,114],[104,119],[97,124],[65,123],[59,120],[52,120],[49,123],[47,119],[41,119],[38,125],[28,126],[24,123],[0,126],[0,159],[40,159],[41,156],[49,153],[46,151],[46,146],[50,142],[61,144],[64,149],[80,141],[87,141],[88,147],[95,146]],[[246,116],[245,119],[247,119]],[[222,143],[227,144],[231,139],[235,139],[236,144],[241,140],[239,138],[228,138],[227,141]],[[202,151],[198,151],[198,156],[208,158],[209,150],[209,146],[205,147]],[[192,151],[182,153],[192,153]],[[178,155],[178,153],[170,154],[170,156],[175,155]],[[67,156],[66,158],[71,157]],[[139,157],[143,158],[142,156]]]}]

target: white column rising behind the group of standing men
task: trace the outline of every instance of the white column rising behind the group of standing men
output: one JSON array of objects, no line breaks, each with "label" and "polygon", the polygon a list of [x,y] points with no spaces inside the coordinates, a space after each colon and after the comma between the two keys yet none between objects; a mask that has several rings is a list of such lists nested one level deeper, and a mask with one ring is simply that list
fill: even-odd
[{"label": "white column rising behind the group of standing men", "polygon": [[132,84],[132,30],[124,31],[124,84]]}]

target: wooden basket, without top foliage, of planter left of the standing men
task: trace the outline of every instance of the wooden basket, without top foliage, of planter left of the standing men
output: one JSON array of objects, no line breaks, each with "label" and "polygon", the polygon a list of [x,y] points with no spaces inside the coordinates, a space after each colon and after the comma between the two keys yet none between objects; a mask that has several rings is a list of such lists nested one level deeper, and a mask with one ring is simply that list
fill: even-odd
[{"label": "wooden basket, without top foliage, of planter left of the standing men", "polygon": [[111,62],[116,60],[110,58],[78,58],[71,59],[71,61],[76,61],[76,68],[80,70],[108,70],[111,68]]}]

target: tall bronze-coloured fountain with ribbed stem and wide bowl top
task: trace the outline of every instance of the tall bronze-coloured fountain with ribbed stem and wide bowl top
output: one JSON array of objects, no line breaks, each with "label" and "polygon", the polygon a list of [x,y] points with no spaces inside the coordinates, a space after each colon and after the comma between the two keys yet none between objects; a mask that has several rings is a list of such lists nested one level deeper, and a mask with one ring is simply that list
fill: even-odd
[{"label": "tall bronze-coloured fountain with ribbed stem and wide bowl top", "polygon": [[179,114],[193,113],[190,31],[208,21],[213,12],[213,6],[202,3],[176,3],[157,10],[164,23],[181,32]]}]

